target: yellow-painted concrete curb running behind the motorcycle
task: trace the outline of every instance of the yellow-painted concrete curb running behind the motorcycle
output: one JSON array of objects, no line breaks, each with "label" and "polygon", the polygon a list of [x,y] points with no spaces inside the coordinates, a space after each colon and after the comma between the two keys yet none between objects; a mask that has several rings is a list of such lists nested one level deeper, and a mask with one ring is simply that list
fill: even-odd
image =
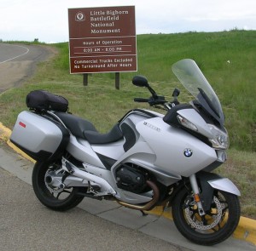
[{"label": "yellow-painted concrete curb running behind the motorcycle", "polygon": [[[3,126],[3,123],[0,123],[0,140],[5,141],[14,151],[16,151],[22,157],[25,157],[32,163],[35,163],[35,161],[31,157],[27,156],[26,153],[24,153],[23,151],[20,151],[19,148],[17,148],[9,141],[11,132],[12,131],[9,128]],[[148,211],[147,213],[161,215],[164,216],[166,219],[172,220],[171,209],[164,210],[163,207],[155,207],[153,210]],[[256,220],[248,219],[241,216],[239,225],[237,226],[233,237],[256,245]]]}]

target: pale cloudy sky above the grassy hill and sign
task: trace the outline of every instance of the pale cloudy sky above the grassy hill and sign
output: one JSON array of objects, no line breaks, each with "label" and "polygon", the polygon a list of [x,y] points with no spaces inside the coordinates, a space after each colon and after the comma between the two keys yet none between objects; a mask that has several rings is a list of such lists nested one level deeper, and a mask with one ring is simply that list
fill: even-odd
[{"label": "pale cloudy sky above the grassy hill and sign", "polygon": [[256,30],[256,0],[0,0],[0,40],[68,41],[67,9],[135,6],[137,34]]}]

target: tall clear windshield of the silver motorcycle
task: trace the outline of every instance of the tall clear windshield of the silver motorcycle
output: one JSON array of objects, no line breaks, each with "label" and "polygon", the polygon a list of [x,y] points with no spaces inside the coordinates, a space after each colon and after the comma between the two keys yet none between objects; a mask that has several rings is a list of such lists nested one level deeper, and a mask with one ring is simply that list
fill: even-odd
[{"label": "tall clear windshield of the silver motorcycle", "polygon": [[223,125],[224,113],[218,97],[195,61],[180,60],[172,66],[172,71],[183,84],[183,87],[200,102],[201,106],[203,106],[212,117]]}]

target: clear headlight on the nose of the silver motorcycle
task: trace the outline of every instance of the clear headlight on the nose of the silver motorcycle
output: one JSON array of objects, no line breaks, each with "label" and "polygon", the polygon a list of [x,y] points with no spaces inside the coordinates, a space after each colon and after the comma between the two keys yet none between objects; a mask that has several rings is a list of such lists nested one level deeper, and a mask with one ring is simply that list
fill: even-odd
[{"label": "clear headlight on the nose of the silver motorcycle", "polygon": [[230,139],[227,131],[222,131],[212,124],[207,124],[212,133],[212,139],[209,139],[212,143],[212,147],[216,149],[227,149],[230,145]]}]

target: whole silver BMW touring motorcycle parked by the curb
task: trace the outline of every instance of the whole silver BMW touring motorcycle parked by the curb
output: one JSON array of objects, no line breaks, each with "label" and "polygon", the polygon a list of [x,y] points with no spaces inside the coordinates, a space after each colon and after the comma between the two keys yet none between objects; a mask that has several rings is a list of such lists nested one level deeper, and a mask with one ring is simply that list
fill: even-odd
[{"label": "whole silver BMW touring motorcycle parked by the curb", "polygon": [[28,95],[30,109],[20,112],[10,140],[37,161],[32,187],[38,200],[59,211],[84,197],[142,212],[162,205],[172,207],[177,230],[191,242],[213,245],[230,237],[240,219],[241,194],[212,173],[229,146],[222,107],[194,60],[180,60],[172,71],[194,100],[179,104],[175,88],[167,101],[146,77],[136,76],[132,83],[151,96],[135,101],[166,114],[128,111],[107,134],[67,112],[61,96]]}]

